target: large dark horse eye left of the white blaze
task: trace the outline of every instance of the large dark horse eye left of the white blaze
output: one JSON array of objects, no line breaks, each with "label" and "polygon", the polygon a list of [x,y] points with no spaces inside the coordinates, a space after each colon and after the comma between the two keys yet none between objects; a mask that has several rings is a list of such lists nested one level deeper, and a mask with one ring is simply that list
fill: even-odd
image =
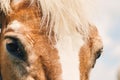
[{"label": "large dark horse eye left of the white blaze", "polygon": [[21,42],[16,38],[6,38],[6,49],[10,55],[25,61],[26,53]]}]

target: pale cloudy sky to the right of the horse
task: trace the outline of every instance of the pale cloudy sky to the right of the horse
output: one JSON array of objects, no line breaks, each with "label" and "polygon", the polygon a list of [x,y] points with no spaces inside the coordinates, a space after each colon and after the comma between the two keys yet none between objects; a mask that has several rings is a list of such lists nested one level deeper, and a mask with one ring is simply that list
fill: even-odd
[{"label": "pale cloudy sky to the right of the horse", "polygon": [[117,80],[120,69],[120,0],[95,0],[94,19],[104,51],[91,71],[90,80]]}]

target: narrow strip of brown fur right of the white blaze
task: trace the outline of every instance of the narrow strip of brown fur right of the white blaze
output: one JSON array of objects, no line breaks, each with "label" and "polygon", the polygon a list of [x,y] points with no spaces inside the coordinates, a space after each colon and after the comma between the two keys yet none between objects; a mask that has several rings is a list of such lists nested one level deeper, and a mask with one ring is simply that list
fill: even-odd
[{"label": "narrow strip of brown fur right of the white blaze", "polygon": [[[96,61],[96,55],[103,45],[95,26],[89,27],[89,38],[80,50],[81,80],[89,80],[89,73]],[[101,54],[101,53],[99,53]]]}]

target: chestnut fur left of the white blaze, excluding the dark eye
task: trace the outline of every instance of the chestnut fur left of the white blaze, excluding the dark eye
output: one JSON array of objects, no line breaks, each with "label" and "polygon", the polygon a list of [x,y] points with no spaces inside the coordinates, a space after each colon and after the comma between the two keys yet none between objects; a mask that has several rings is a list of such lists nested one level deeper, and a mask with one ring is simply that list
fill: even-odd
[{"label": "chestnut fur left of the white blaze, excluding the dark eye", "polygon": [[[38,14],[39,12],[38,10],[36,10],[36,6],[31,5],[29,8],[21,7],[19,8],[19,10],[16,9],[14,13],[8,15],[7,22],[18,20],[19,22],[26,25],[26,27],[22,27],[18,33],[20,33],[20,35],[24,35],[24,37],[28,40],[29,38],[32,39],[34,43],[32,43],[33,46],[31,47],[31,49],[38,57],[34,63],[27,63],[29,64],[29,71],[25,71],[26,63],[17,64],[16,62],[11,62],[9,56],[6,55],[7,52],[4,49],[4,46],[2,46],[1,73],[4,73],[2,74],[3,80],[26,80],[25,76],[31,76],[35,80],[60,80],[61,68],[58,61],[59,57],[57,54],[57,50],[52,47],[48,37],[45,34],[45,29],[43,28],[41,31],[39,31],[40,15]],[[14,30],[7,30],[5,32],[14,32]],[[29,35],[29,37],[27,37],[27,35]],[[1,42],[3,41],[4,39],[2,39]],[[4,42],[2,43],[2,45],[3,44]],[[30,55],[31,51],[28,51],[27,53],[29,53],[27,55]],[[23,68],[17,69],[16,65],[21,65],[21,68]],[[20,70],[22,70],[22,72],[18,73],[20,72]]]}]

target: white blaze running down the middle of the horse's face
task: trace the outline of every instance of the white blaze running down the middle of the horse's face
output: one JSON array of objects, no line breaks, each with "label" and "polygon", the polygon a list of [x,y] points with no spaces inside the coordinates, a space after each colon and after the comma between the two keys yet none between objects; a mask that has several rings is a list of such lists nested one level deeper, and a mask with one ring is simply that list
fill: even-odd
[{"label": "white blaze running down the middle of the horse's face", "polygon": [[84,44],[80,34],[64,35],[56,45],[62,67],[63,80],[80,80],[79,52]]}]

